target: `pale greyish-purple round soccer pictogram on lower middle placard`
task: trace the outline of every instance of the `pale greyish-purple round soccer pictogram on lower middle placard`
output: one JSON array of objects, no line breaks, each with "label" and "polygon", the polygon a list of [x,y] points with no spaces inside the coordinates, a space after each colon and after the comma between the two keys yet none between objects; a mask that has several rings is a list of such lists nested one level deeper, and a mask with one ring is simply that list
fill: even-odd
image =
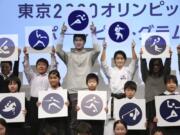
[{"label": "pale greyish-purple round soccer pictogram on lower middle placard", "polygon": [[87,95],[81,102],[81,109],[87,115],[95,116],[102,111],[103,101],[98,95]]}]

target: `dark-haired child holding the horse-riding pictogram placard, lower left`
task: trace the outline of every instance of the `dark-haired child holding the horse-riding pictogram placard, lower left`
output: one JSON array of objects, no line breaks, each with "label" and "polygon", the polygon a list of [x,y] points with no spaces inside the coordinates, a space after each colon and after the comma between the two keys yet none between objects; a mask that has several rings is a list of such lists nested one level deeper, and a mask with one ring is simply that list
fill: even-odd
[{"label": "dark-haired child holding the horse-riding pictogram placard, lower left", "polygon": [[[9,93],[17,93],[20,91],[21,88],[21,81],[18,77],[12,76],[7,79],[8,83],[8,90]],[[27,100],[25,100],[25,108],[26,108]],[[24,117],[26,117],[26,110],[23,110]],[[24,123],[8,123],[8,135],[14,135],[16,133],[17,135],[25,135],[25,128]]]}]

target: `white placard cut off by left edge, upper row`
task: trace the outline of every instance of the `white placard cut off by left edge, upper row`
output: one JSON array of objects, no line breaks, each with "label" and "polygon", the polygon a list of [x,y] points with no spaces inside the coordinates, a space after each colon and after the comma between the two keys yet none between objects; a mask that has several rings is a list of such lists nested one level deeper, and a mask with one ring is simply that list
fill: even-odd
[{"label": "white placard cut off by left edge, upper row", "polygon": [[18,60],[18,35],[0,35],[0,61]]}]

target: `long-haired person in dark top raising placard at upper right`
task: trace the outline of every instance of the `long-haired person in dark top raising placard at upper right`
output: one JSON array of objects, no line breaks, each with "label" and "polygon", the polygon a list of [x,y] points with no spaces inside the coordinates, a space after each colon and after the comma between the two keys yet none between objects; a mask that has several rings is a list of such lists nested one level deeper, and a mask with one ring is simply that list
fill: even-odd
[{"label": "long-haired person in dark top raising placard at upper right", "polygon": [[141,75],[142,80],[145,84],[146,117],[148,128],[147,132],[150,132],[154,128],[154,124],[151,121],[153,117],[153,114],[151,113],[151,101],[154,100],[154,96],[161,94],[166,89],[164,78],[171,72],[171,50],[169,51],[169,53],[170,58],[166,58],[164,65],[162,59],[160,58],[150,59],[148,69],[146,59],[142,58],[143,51],[141,50],[140,52]]}]

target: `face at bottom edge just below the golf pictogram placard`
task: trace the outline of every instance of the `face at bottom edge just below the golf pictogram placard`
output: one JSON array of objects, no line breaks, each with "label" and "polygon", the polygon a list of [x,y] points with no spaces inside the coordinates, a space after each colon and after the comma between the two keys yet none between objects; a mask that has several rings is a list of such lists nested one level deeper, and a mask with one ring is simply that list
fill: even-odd
[{"label": "face at bottom edge just below the golf pictogram placard", "polygon": [[114,129],[115,135],[126,135],[126,133],[127,133],[127,130],[122,123],[116,124],[116,127]]}]

